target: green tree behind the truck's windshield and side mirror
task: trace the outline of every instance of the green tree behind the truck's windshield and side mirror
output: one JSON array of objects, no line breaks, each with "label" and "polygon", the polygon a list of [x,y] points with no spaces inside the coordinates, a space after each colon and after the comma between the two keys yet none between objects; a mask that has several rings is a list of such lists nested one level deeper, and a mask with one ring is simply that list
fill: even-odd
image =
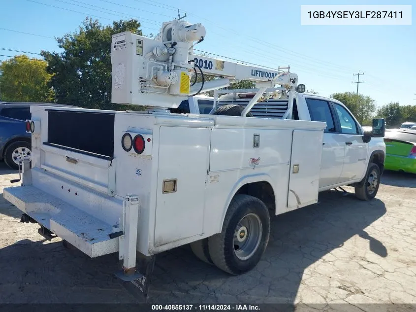
[{"label": "green tree behind the truck's windshield and side mirror", "polygon": [[371,120],[376,112],[376,104],[369,96],[356,95],[353,92],[334,93],[331,98],[345,104],[362,125],[371,125]]}]

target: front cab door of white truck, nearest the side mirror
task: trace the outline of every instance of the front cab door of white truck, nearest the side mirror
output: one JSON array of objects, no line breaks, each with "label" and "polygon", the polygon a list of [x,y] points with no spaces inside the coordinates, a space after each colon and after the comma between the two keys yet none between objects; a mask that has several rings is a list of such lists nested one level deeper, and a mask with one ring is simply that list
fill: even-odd
[{"label": "front cab door of white truck, nearest the side mirror", "polygon": [[345,144],[344,166],[338,183],[361,179],[367,164],[367,143],[363,142],[361,129],[346,107],[331,103],[337,123],[337,132]]}]

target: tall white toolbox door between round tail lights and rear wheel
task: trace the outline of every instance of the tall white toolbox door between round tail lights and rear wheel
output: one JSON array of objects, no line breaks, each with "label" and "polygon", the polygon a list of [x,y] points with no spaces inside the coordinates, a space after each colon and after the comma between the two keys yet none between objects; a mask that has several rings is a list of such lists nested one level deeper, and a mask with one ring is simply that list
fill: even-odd
[{"label": "tall white toolbox door between round tail lights and rear wheel", "polygon": [[156,247],[203,233],[210,131],[160,127]]}]

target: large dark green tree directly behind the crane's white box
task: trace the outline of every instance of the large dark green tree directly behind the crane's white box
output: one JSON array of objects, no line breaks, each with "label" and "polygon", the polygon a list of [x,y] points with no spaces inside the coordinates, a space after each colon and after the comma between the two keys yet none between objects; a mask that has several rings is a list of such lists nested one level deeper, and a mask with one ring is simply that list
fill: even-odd
[{"label": "large dark green tree directly behind the crane's white box", "polygon": [[56,91],[56,101],[88,108],[126,109],[127,105],[111,103],[111,35],[124,31],[142,35],[139,28],[135,19],[102,26],[86,18],[77,32],[57,38],[62,53],[42,51],[48,61],[47,70],[53,74],[50,86]]}]

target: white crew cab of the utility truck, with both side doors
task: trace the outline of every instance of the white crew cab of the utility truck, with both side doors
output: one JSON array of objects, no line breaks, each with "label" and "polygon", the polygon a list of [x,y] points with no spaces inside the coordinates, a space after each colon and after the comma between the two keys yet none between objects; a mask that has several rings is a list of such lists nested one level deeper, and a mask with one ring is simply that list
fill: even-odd
[{"label": "white crew cab of the utility truck, with both side doors", "polygon": [[304,93],[297,95],[295,106],[292,119],[326,122],[322,142],[320,191],[361,181],[371,163],[379,167],[380,174],[383,173],[383,138],[372,137],[365,132],[343,103]]}]

